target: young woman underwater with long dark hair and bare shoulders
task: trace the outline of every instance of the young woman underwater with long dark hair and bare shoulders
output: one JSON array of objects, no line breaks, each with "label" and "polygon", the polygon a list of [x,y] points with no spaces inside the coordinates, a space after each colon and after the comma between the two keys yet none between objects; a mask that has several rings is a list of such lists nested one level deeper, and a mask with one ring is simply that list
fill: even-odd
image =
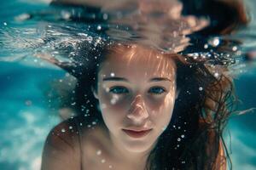
[{"label": "young woman underwater with long dark hair and bare shoulders", "polygon": [[[230,33],[232,24],[201,34]],[[88,48],[77,54],[86,62],[68,70],[79,115],[49,133],[42,170],[226,169],[222,132],[235,98],[224,66],[212,71],[136,42]]]}]

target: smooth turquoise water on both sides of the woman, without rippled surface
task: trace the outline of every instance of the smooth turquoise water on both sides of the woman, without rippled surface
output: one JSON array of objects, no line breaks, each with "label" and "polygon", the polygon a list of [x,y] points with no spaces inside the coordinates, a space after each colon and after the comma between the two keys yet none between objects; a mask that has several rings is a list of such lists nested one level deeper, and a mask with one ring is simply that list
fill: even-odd
[{"label": "smooth turquoise water on both sides of the woman, without rippled surface", "polygon": [[[247,3],[256,5],[253,2]],[[43,1],[4,1],[0,6],[0,27],[27,27],[13,22],[15,16],[43,8],[48,8]],[[252,28],[254,22],[242,32],[256,36],[256,30]],[[256,44],[253,41],[250,38],[245,40],[251,42],[251,46]],[[60,122],[55,108],[49,105],[46,94],[50,90],[50,82],[65,77],[65,72],[55,65],[34,59],[29,53],[25,59],[10,61],[15,55],[7,54],[1,47],[0,44],[0,57],[9,59],[0,62],[0,169],[37,170],[40,167],[44,139],[49,129]],[[19,50],[22,51],[23,48]],[[238,110],[242,111],[256,107],[256,67],[246,65],[246,69],[241,68],[236,74],[235,84],[236,93],[241,100]],[[256,169],[255,122],[256,111],[253,110],[230,118],[225,139],[235,170]]]}]

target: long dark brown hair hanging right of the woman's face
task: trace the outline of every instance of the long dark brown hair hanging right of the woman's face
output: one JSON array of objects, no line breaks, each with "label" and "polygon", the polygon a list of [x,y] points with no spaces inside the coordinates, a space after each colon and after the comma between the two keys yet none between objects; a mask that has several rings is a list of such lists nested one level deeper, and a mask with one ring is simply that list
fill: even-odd
[{"label": "long dark brown hair hanging right of the woman's face", "polygon": [[222,133],[236,101],[230,77],[216,77],[200,62],[177,60],[177,87],[180,94],[172,121],[149,156],[152,166],[220,169],[216,166],[223,165],[217,161],[226,161],[226,157],[218,157],[224,144]]}]

